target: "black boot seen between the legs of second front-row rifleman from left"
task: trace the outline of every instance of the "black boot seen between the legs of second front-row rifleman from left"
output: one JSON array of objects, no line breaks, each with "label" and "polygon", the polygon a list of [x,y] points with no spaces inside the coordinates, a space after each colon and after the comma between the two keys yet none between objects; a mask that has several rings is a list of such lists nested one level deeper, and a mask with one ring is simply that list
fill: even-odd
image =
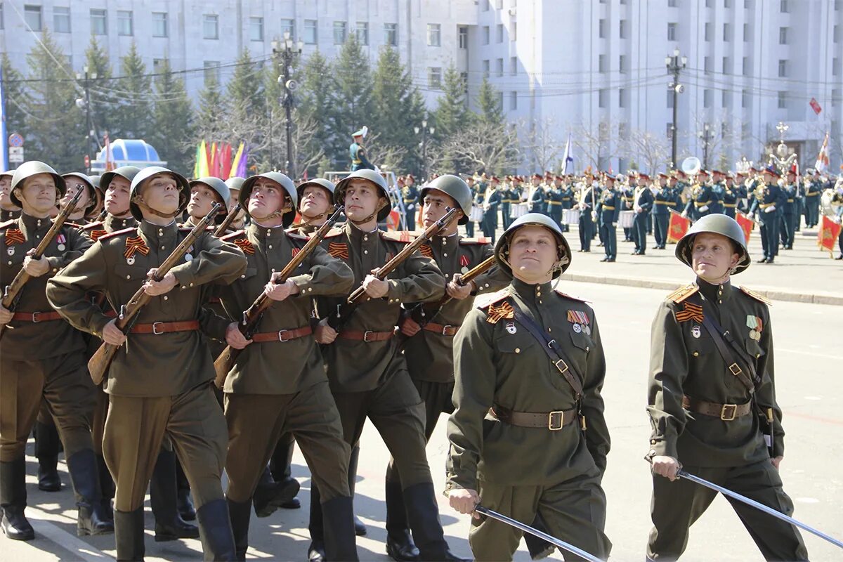
[{"label": "black boot seen between the legs of second front-row rifleman from left", "polygon": [[175,484],[175,452],[162,449],[149,481],[149,506],[155,517],[155,542],[199,538],[199,527],[179,515]]}]

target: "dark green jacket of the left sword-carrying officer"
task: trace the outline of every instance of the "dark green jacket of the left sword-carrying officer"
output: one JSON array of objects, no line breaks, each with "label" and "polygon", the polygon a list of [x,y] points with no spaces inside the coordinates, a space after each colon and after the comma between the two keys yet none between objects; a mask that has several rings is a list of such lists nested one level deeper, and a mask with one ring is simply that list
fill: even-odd
[{"label": "dark green jacket of the left sword-carrying officer", "polygon": [[[478,480],[550,485],[583,474],[599,477],[606,468],[609,430],[600,396],[606,361],[592,308],[554,291],[551,283],[528,285],[518,280],[477,300],[483,302],[465,317],[454,340],[455,411],[448,420],[446,491],[478,490]],[[511,426],[487,415],[494,404],[538,413],[577,407],[573,388],[527,329],[506,316],[490,323],[495,319],[490,317],[491,305],[506,303],[554,335],[584,377],[581,411],[587,431],[581,431],[576,420],[550,431]],[[588,323],[569,321],[569,311],[587,317]]]}]

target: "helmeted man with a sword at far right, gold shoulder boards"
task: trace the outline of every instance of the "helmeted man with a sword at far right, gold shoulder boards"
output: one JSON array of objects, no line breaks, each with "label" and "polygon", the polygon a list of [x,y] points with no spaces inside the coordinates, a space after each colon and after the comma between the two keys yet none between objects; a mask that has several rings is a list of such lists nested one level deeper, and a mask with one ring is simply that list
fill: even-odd
[{"label": "helmeted man with a sword at far right, gold shoulder boards", "polygon": [[[678,559],[690,525],[717,495],[677,478],[680,468],[777,511],[793,512],[779,475],[784,431],[768,302],[731,283],[731,276],[749,267],[744,233],[731,217],[703,217],[676,244],[676,257],[696,280],[670,294],[652,321],[648,560]],[[729,502],[765,559],[808,559],[796,527]]]}]

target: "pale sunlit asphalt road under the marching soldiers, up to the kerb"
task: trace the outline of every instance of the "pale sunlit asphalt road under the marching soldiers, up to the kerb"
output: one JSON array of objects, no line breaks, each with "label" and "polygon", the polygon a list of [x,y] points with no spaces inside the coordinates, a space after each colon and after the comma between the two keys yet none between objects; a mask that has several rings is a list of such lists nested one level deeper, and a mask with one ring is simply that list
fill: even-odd
[{"label": "pale sunlit asphalt road under the marching soldiers, up to the kerb", "polygon": [[[736,281],[740,281],[739,278]],[[609,468],[604,488],[609,501],[607,534],[614,543],[614,560],[641,560],[650,528],[651,476],[642,456],[647,452],[649,422],[646,404],[649,332],[652,314],[666,292],[615,285],[564,282],[561,289],[593,301],[604,346],[608,371],[604,388],[607,418],[612,436]],[[787,431],[781,473],[785,490],[796,505],[795,517],[825,533],[843,537],[843,308],[775,302],[771,309],[776,340],[776,383]],[[434,482],[443,488],[444,458],[448,446],[444,420],[428,447]],[[517,444],[513,444],[517,447]],[[31,454],[31,444],[30,444]],[[368,524],[368,535],[358,538],[362,560],[388,560],[384,551],[384,468],[389,453],[370,424],[362,437],[356,511]],[[28,457],[34,475],[35,458]],[[66,468],[60,465],[67,484]],[[255,559],[306,559],[309,543],[307,506],[309,474],[297,451],[293,475],[302,484],[303,508],[278,511],[266,519],[252,518],[249,557]],[[113,536],[77,538],[76,511],[67,486],[47,494],[37,490],[35,477],[27,480],[27,509],[37,538],[30,543],[0,537],[4,560],[106,560],[115,555]],[[469,519],[452,511],[440,495],[439,507],[452,549],[470,556],[466,541]],[[154,543],[153,518],[147,511],[147,559],[201,559],[198,541]],[[803,533],[813,560],[840,560],[843,553],[813,535]],[[554,559],[561,559],[555,554]],[[519,549],[517,560],[529,560]],[[692,528],[683,560],[761,560],[744,527],[722,498],[718,498]]]}]

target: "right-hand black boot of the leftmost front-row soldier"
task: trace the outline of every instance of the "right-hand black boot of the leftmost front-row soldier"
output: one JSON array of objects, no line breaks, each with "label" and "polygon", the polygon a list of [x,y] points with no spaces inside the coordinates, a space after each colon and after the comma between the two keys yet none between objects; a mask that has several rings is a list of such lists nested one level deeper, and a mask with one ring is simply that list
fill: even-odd
[{"label": "right-hand black boot of the leftmost front-row soldier", "polygon": [[73,453],[67,459],[67,472],[70,473],[79,508],[76,533],[80,537],[114,533],[114,520],[102,504],[99,470],[93,449]]}]

